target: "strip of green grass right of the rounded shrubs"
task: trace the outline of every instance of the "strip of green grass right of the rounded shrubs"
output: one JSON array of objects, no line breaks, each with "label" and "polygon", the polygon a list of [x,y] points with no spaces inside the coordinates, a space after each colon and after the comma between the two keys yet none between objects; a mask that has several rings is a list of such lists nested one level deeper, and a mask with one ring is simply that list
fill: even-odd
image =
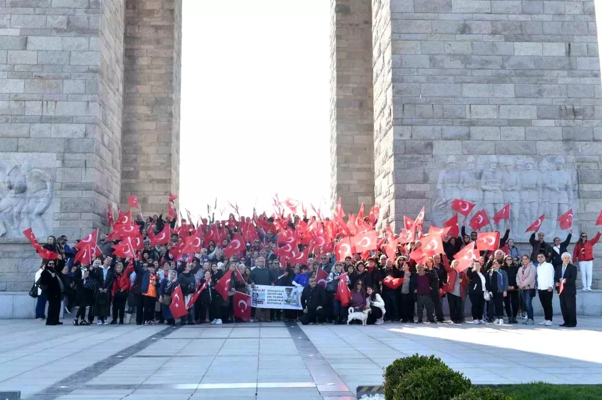
[{"label": "strip of green grass right of the rounded shrubs", "polygon": [[487,385],[498,389],[516,400],[600,400],[602,385],[554,385],[550,383],[527,383],[517,385]]}]

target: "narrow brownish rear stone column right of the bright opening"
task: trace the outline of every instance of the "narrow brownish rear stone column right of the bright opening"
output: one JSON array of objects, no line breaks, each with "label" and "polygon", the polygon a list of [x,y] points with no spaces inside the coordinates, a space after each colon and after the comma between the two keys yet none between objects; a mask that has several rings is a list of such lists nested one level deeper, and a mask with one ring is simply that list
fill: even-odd
[{"label": "narrow brownish rear stone column right of the bright opening", "polygon": [[374,202],[370,0],[330,4],[330,200],[356,213]]}]

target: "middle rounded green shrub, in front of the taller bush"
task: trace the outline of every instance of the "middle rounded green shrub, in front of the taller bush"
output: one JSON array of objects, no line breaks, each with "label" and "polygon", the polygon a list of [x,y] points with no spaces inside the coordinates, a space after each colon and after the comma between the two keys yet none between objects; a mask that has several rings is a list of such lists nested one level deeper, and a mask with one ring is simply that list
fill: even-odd
[{"label": "middle rounded green shrub, in front of the taller bush", "polygon": [[451,400],[473,384],[447,365],[424,366],[408,372],[395,388],[394,400]]}]

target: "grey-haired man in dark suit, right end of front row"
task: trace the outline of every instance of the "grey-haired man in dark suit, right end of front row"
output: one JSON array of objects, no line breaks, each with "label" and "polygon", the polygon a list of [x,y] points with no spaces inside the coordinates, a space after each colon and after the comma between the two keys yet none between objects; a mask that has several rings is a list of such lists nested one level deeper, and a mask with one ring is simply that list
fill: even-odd
[{"label": "grey-haired man in dark suit, right end of front row", "polygon": [[[571,263],[571,254],[562,253],[562,265],[554,271],[556,291],[559,292],[560,310],[564,323],[561,327],[573,328],[577,326],[577,266]],[[562,292],[560,292],[562,288]]]}]

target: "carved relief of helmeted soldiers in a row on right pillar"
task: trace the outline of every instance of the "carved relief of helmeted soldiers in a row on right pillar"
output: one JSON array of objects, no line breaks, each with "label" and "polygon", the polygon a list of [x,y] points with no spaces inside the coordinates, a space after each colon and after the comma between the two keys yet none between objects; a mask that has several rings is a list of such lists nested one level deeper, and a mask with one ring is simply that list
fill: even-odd
[{"label": "carved relief of helmeted soldiers in a row on right pillar", "polygon": [[[577,214],[577,176],[574,161],[564,156],[534,160],[524,156],[449,156],[433,191],[433,223],[442,226],[453,216],[451,204],[455,198],[475,203],[466,220],[484,209],[494,230],[503,231],[512,224],[512,238],[527,241],[524,231],[540,215],[545,214],[541,228],[547,237],[566,236],[556,221],[569,209]],[[496,225],[493,215],[510,204],[510,220]],[[464,217],[459,215],[459,222]],[[573,221],[573,229],[578,229]],[[491,229],[491,227],[489,228]]]}]

